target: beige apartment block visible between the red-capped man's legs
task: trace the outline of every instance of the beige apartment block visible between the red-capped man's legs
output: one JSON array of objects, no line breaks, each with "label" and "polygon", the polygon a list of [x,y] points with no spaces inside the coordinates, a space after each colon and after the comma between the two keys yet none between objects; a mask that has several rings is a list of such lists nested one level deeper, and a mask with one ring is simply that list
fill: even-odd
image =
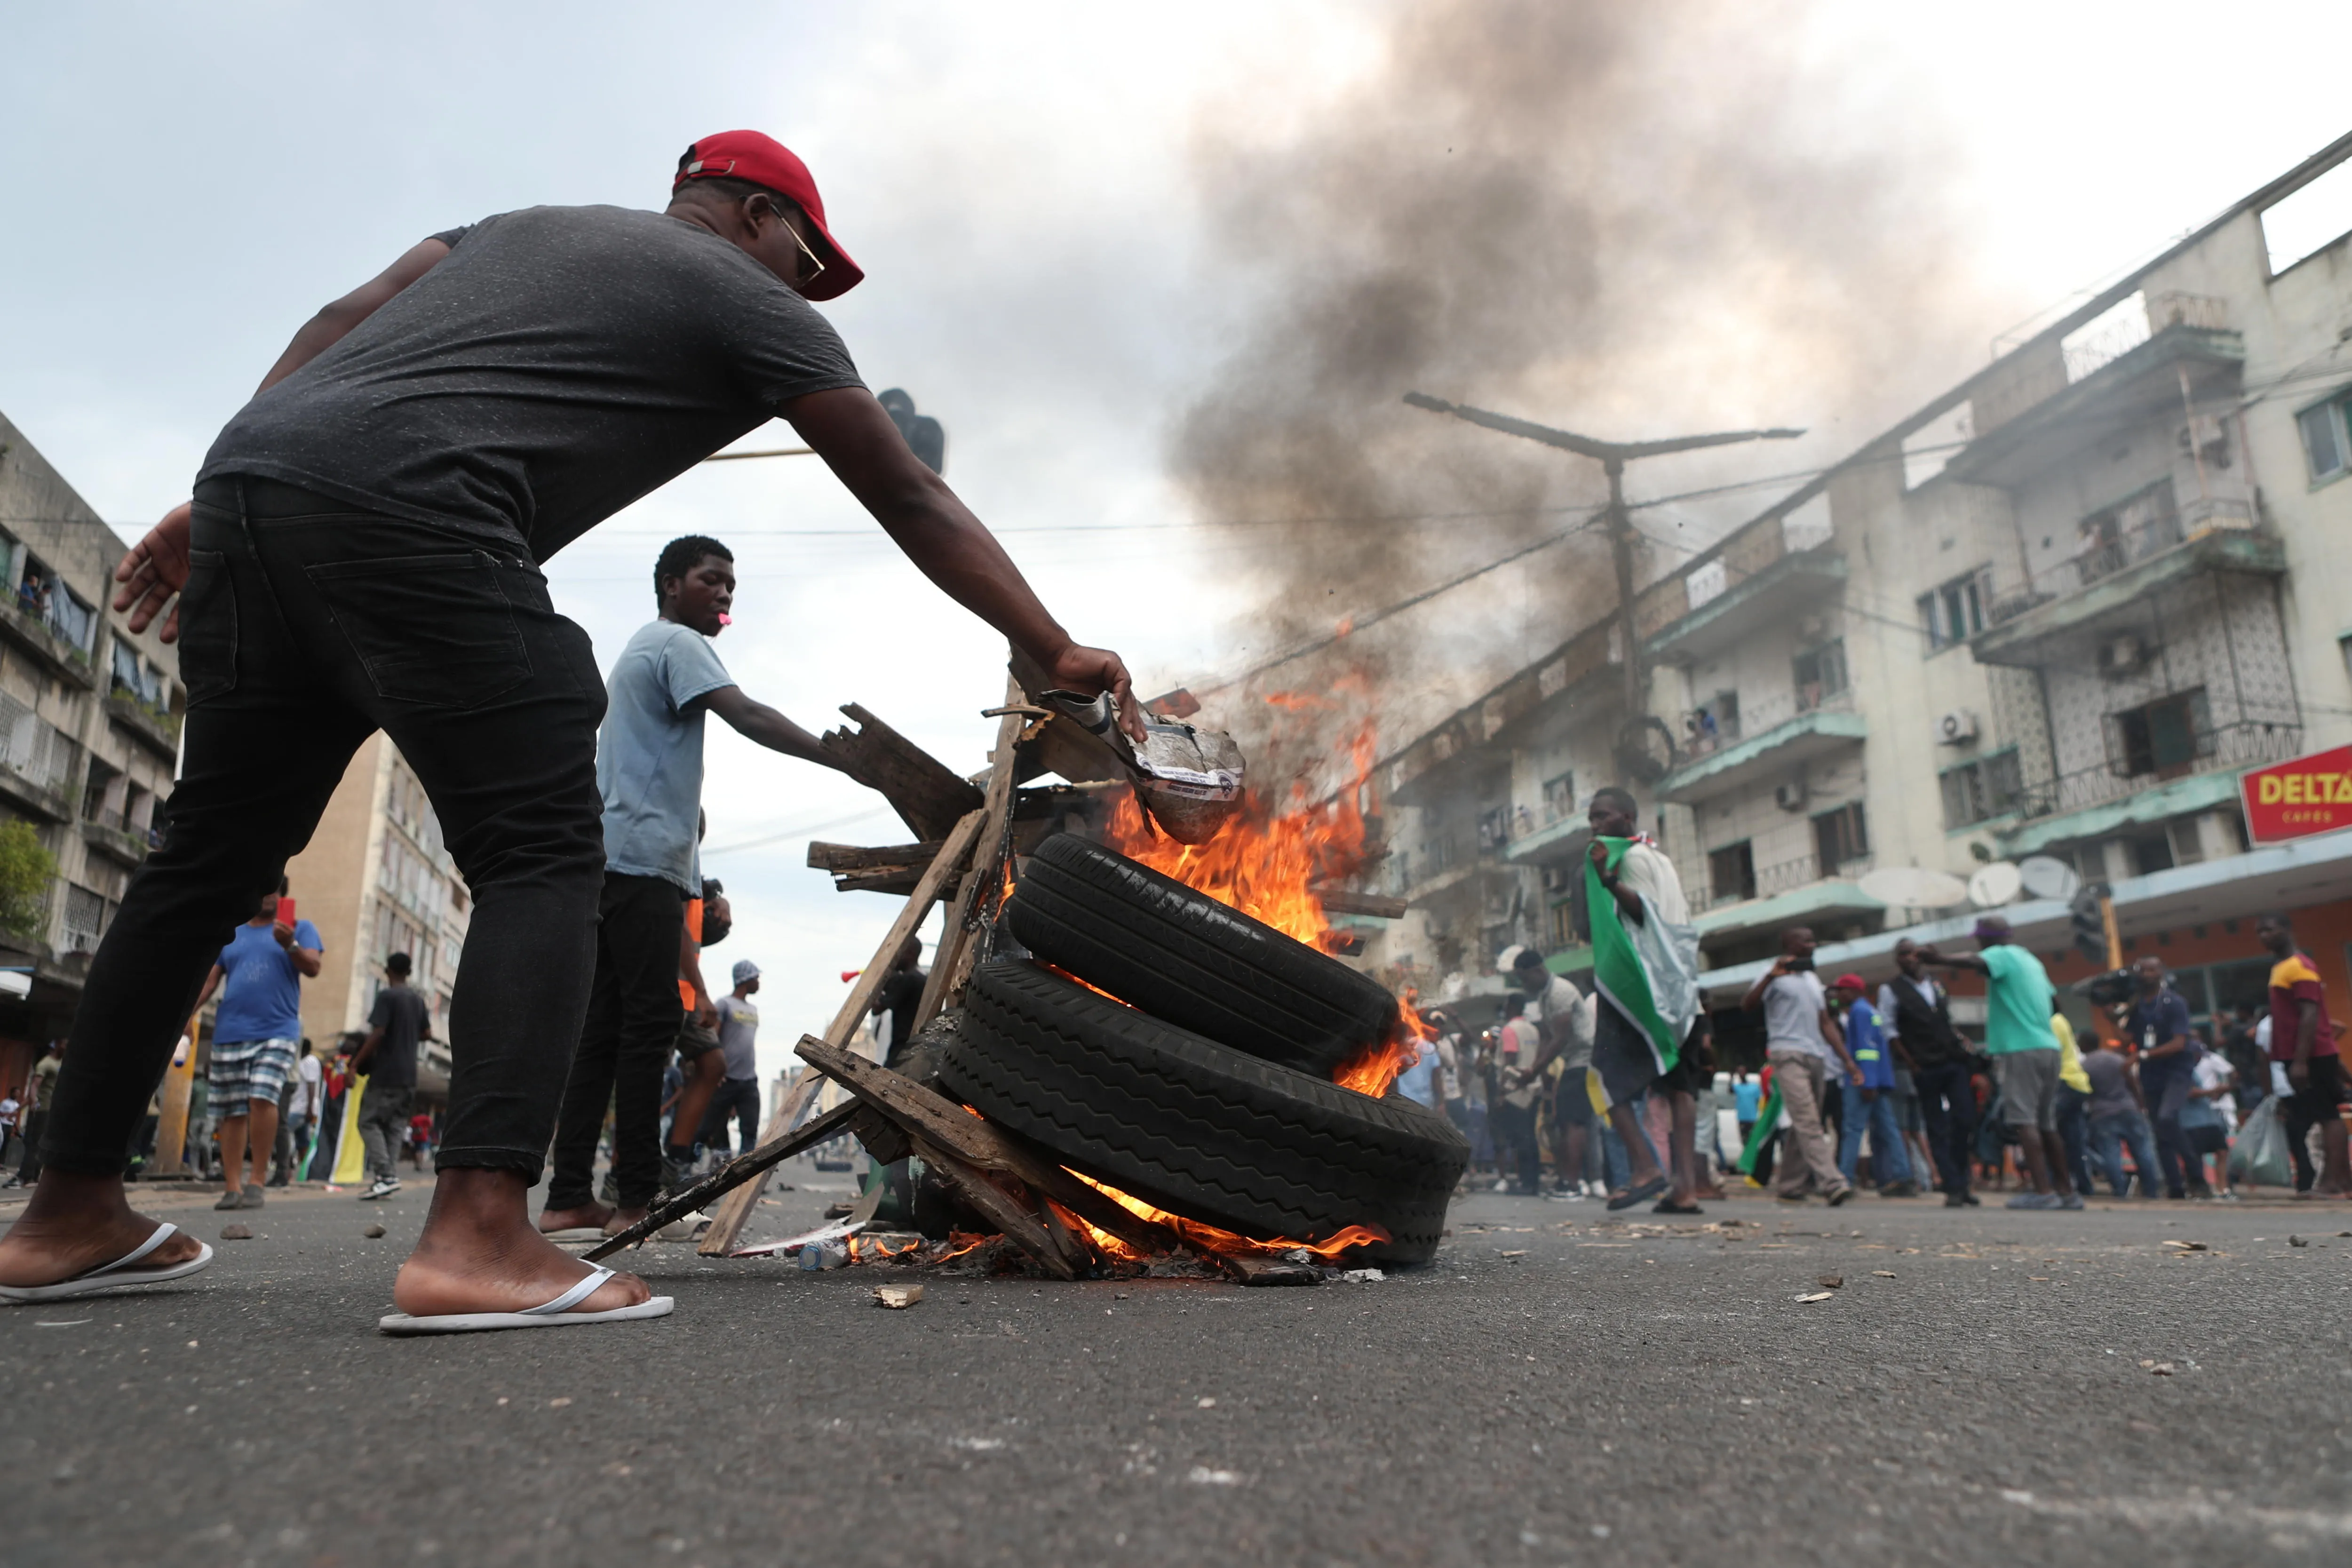
[{"label": "beige apartment block visible between the red-capped man's legs", "polygon": [[[407,952],[409,985],[433,1011],[419,1086],[447,1086],[449,994],[466,947],[473,898],[459,877],[423,783],[381,731],[343,769],[310,844],[287,863],[296,912],[327,943],[315,980],[303,983],[301,1023],[320,1051],[367,1030],[383,987],[383,959]],[[440,1079],[435,1084],[435,1079]]]}]

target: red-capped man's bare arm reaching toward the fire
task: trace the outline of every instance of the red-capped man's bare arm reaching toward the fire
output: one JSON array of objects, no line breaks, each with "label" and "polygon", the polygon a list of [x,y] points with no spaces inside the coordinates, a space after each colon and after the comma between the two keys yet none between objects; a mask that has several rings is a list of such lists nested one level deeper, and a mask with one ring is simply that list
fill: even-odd
[{"label": "red-capped man's bare arm reaching toward the fire", "polygon": [[955,498],[946,480],[908,451],[906,437],[873,393],[856,386],[809,393],[783,404],[783,416],[927,578],[1004,632],[1056,684],[1070,691],[1110,691],[1120,703],[1120,724],[1134,741],[1143,741],[1143,719],[1120,656],[1070,639],[995,534]]}]

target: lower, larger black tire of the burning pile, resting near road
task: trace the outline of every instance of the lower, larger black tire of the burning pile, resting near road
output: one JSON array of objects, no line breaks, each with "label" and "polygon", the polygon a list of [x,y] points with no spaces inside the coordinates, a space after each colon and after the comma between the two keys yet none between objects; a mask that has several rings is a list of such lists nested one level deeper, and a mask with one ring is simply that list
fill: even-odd
[{"label": "lower, larger black tire of the burning pile, resting near road", "polygon": [[1404,1098],[1279,1067],[1148,1018],[1035,964],[993,959],[964,992],[943,1081],[990,1121],[1169,1213],[1425,1262],[1470,1145]]}]

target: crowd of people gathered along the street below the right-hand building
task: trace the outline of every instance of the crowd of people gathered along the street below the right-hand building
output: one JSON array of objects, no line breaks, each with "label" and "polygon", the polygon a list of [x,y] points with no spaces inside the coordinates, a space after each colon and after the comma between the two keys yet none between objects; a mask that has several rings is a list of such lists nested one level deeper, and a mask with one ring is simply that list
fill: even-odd
[{"label": "crowd of people gathered along the street below the right-hand building", "polygon": [[[1623,1016],[1609,987],[1585,994],[1519,947],[1498,964],[1512,990],[1477,999],[1496,1009],[1491,1027],[1470,1001],[1421,1011],[1430,1037],[1399,1088],[1470,1140],[1468,1185],[1611,1208],[1644,1201],[1649,1173],[1684,1147],[1696,1173],[1672,1182],[1663,1213],[1719,1197],[1724,1182],[1832,1206],[1860,1190],[1933,1190],[1962,1208],[1980,1204],[1980,1187],[2016,1187],[2011,1208],[2082,1208],[2133,1190],[2234,1199],[2251,1185],[2352,1197],[2343,1025],[2286,914],[2256,924],[2272,966],[2265,1009],[2197,1023],[2150,954],[2098,987],[2089,1039],[2002,917],[1983,917],[1973,936],[1966,954],[1898,940],[1893,973],[1872,985],[1860,973],[1823,980],[1813,931],[1795,926],[1738,1004],[1762,1020],[1764,1060],[1705,1060],[1700,1013],[1691,1060],[1708,1070],[1668,1095],[1632,1086],[1623,1100],[1590,1060]],[[1980,1037],[1952,1020],[1938,969],[1983,978]],[[1693,1100],[1689,1145],[1675,1091]]]}]

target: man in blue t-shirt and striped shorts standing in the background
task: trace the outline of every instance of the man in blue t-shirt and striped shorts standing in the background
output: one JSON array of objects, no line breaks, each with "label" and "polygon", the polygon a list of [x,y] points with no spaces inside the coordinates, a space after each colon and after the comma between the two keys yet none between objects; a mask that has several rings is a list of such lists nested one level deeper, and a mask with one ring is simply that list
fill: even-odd
[{"label": "man in blue t-shirt and striped shorts standing in the background", "polygon": [[[278,919],[278,898],[263,893],[254,917],[238,926],[205,976],[205,1011],[212,992],[221,992],[221,1011],[212,1020],[212,1105],[221,1112],[221,1201],[214,1208],[261,1208],[261,1173],[278,1145],[278,1093],[294,1070],[301,1048],[301,976],[318,973],[327,950],[318,926],[306,919]],[[252,1168],[247,1171],[247,1150]]]}]

